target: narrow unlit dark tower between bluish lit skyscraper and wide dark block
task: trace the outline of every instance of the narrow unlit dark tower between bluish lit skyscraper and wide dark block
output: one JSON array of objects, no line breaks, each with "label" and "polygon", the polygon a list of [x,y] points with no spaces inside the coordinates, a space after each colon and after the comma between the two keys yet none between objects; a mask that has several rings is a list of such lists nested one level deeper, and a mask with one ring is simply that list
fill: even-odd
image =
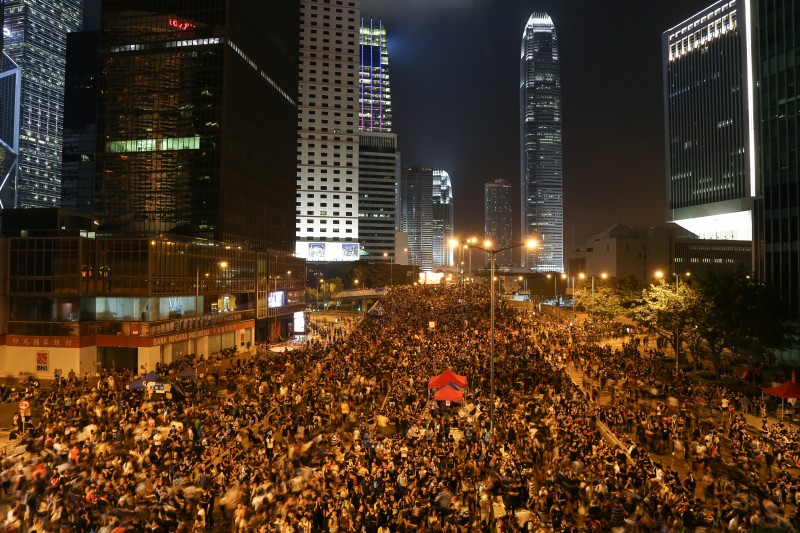
[{"label": "narrow unlit dark tower between bluish lit skyscraper and wide dark block", "polygon": [[67,35],[61,207],[92,213],[97,143],[97,52],[100,32]]}]

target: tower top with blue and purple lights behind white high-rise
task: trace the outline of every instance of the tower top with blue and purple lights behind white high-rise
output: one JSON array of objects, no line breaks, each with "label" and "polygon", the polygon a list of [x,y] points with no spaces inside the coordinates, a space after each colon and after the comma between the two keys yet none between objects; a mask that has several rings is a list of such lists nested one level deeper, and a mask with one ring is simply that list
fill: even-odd
[{"label": "tower top with blue and purple lights behind white high-rise", "polygon": [[379,19],[369,24],[361,17],[361,83],[359,129],[392,131],[392,93],[389,86],[389,45],[386,28]]}]

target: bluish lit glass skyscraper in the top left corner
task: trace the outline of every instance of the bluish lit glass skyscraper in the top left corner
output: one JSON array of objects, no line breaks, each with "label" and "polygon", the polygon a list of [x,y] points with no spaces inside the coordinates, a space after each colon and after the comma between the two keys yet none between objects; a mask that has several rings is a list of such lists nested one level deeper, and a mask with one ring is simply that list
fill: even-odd
[{"label": "bluish lit glass skyscraper in the top left corner", "polygon": [[67,34],[79,31],[83,0],[6,0],[4,51],[22,72],[16,207],[61,200]]}]

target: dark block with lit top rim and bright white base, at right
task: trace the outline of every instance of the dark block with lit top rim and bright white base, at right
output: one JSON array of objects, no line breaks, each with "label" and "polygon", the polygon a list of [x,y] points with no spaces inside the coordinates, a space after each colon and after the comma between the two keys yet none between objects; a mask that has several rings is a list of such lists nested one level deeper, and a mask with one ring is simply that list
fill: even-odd
[{"label": "dark block with lit top rim and bright white base, at right", "polygon": [[750,2],[720,0],[662,36],[666,220],[751,240],[758,194]]}]

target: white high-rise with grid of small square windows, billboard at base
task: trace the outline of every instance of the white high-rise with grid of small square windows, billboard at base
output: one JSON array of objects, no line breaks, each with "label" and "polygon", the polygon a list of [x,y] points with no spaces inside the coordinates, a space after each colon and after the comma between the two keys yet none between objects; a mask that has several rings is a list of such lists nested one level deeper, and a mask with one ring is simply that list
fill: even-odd
[{"label": "white high-rise with grid of small square windows, billboard at base", "polygon": [[296,254],[357,261],[359,2],[300,4]]}]

